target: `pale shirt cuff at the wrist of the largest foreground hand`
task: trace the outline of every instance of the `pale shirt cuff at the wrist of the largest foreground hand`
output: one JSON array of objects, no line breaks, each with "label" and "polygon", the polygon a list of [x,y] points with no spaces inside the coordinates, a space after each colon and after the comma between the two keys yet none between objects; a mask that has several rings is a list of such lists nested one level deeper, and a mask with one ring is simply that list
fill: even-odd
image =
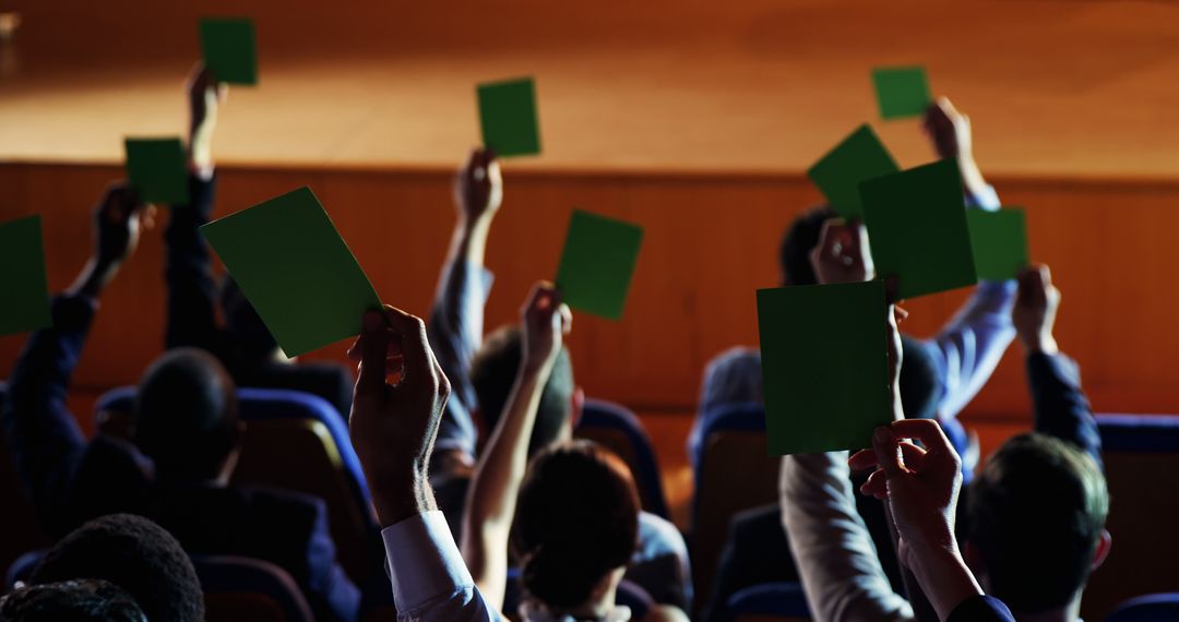
[{"label": "pale shirt cuff at the wrist of the largest foreground hand", "polygon": [[381,538],[399,609],[411,611],[439,595],[474,588],[475,581],[441,511],[389,525],[381,531]]}]

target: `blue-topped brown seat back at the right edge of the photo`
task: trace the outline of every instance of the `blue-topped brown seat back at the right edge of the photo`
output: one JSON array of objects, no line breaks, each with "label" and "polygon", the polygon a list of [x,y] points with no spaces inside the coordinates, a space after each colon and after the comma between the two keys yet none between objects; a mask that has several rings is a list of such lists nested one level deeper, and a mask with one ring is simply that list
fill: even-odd
[{"label": "blue-topped brown seat back at the right edge of the photo", "polygon": [[[1098,415],[1109,485],[1113,547],[1093,573],[1081,613],[1102,620],[1118,603],[1179,585],[1179,416]],[[1150,570],[1147,570],[1150,569]]]}]

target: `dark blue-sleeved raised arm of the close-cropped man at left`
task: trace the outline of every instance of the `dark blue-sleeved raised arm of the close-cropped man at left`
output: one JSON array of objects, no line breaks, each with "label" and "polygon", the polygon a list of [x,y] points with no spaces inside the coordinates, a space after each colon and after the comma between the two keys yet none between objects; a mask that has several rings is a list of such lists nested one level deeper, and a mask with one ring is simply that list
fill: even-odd
[{"label": "dark blue-sleeved raised arm of the close-cropped man at left", "polygon": [[95,246],[70,289],[53,300],[53,325],[29,337],[8,381],[4,430],[18,476],[42,524],[66,520],[67,495],[86,441],[66,406],[103,291],[134,252],[146,216],[133,193],[112,184],[94,210]]}]

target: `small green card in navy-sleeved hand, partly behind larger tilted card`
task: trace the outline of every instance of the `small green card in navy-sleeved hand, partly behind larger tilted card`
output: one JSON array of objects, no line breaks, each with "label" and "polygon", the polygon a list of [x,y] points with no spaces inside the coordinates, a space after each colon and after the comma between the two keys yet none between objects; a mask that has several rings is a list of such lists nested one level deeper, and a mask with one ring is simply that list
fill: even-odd
[{"label": "small green card in navy-sleeved hand, partly behind larger tilted card", "polygon": [[970,227],[970,249],[980,279],[1013,279],[1027,267],[1028,231],[1023,210],[967,210],[966,221]]}]

